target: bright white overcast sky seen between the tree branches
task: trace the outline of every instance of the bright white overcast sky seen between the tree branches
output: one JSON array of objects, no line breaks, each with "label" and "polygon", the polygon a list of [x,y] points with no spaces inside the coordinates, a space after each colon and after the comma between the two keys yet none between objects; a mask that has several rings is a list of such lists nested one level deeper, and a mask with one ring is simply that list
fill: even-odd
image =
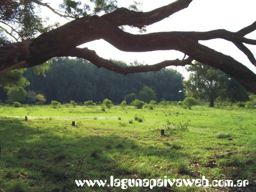
[{"label": "bright white overcast sky seen between the tree branches", "polygon": [[[142,11],[150,11],[174,1],[175,0],[137,0],[137,2],[142,3]],[[56,5],[61,3],[61,0],[44,0],[43,2],[52,2],[50,5],[54,8],[58,8]],[[88,1],[81,0],[81,2]],[[130,4],[133,4],[133,0],[118,0],[118,7],[128,7]],[[147,33],[161,31],[209,31],[222,28],[236,32],[256,20],[255,8],[256,0],[193,0],[188,8],[148,26]],[[52,15],[50,11],[47,11],[46,14],[49,15],[52,22],[56,20],[60,21],[60,17],[54,14]],[[63,21],[68,22],[68,20],[61,19],[61,23],[63,23]],[[127,31],[136,33],[138,30],[127,29]],[[246,37],[256,39],[256,31],[248,34]],[[256,67],[250,63],[248,58],[238,50],[234,44],[222,39],[201,41],[200,43],[216,51],[230,55],[256,73]],[[254,56],[256,56],[256,46],[246,46],[252,51]],[[145,64],[149,65],[163,60],[182,59],[184,56],[183,53],[178,51],[123,52],[102,39],[83,44],[80,47],[88,47],[89,49],[95,50],[99,56],[105,59],[123,60],[126,63],[138,60],[141,63],[145,62]],[[182,67],[178,67],[177,70],[180,71],[180,73],[183,72]],[[187,77],[188,73],[184,72],[183,75]]]}]

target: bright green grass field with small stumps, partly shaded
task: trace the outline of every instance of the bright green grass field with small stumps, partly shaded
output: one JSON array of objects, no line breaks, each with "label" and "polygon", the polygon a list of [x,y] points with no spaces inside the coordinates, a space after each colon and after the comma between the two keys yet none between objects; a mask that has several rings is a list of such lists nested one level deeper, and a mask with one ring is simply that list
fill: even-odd
[{"label": "bright green grass field with small stumps, partly shaded", "polygon": [[[251,185],[245,188],[254,191],[255,112],[204,106],[192,110],[114,106],[105,112],[100,106],[1,106],[0,191],[238,191],[237,187],[72,187],[74,177],[109,180],[111,175],[249,180]],[[76,172],[83,155],[82,168]]]}]

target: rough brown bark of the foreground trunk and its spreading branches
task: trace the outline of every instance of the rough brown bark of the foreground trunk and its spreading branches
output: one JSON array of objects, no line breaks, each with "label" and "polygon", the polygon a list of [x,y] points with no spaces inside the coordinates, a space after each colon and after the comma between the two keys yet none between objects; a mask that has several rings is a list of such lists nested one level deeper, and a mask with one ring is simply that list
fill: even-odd
[{"label": "rough brown bark of the foreground trunk and its spreading branches", "polygon": [[[199,44],[199,40],[222,38],[234,43],[256,66],[252,52],[244,45],[256,45],[256,40],[244,36],[256,30],[256,21],[237,32],[225,29],[207,32],[159,32],[134,35],[124,32],[119,26],[130,25],[138,28],[153,24],[187,8],[192,0],[177,0],[150,12],[135,12],[118,8],[102,16],[86,16],[41,34],[37,38],[0,47],[0,73],[15,68],[32,67],[44,63],[52,57],[72,56],[89,60],[97,67],[107,68],[116,73],[128,74],[158,71],[166,66],[192,65],[192,61],[219,68],[234,77],[241,85],[256,94],[256,75],[230,56]],[[77,38],[79,37],[79,38]],[[146,52],[155,50],[177,50],[188,56],[183,60],[167,60],[155,65],[121,67],[110,60],[99,57],[95,51],[76,46],[104,39],[117,49],[126,52]],[[185,58],[185,57],[184,57]]]}]

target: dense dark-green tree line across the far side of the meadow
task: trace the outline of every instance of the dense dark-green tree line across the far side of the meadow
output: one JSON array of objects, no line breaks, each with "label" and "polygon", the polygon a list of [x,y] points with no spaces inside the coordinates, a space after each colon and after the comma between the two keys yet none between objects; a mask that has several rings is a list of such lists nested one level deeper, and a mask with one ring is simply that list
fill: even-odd
[{"label": "dense dark-green tree line across the far side of the meadow", "polygon": [[[127,66],[122,61],[114,61]],[[130,65],[140,65],[134,62]],[[114,103],[121,103],[124,96],[135,93],[137,97],[144,86],[149,86],[156,93],[156,100],[180,101],[184,99],[182,75],[173,69],[162,69],[156,72],[137,73],[129,76],[117,74],[104,68],[97,68],[83,59],[68,57],[54,58],[45,77],[36,76],[31,68],[24,73],[30,82],[27,90],[44,94],[46,102],[58,100],[67,103],[69,100],[84,102],[103,101],[105,98]]]}]

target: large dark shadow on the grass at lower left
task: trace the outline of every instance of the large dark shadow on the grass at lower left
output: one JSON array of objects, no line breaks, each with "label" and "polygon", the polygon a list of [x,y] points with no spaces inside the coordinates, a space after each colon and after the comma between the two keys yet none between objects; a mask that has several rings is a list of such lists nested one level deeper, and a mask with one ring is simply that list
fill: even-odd
[{"label": "large dark shadow on the grass at lower left", "polygon": [[[83,167],[76,175],[80,180],[109,180],[111,175],[119,179],[170,176],[173,165],[168,162],[190,158],[182,148],[149,145],[106,129],[83,124],[73,127],[66,121],[1,118],[0,132],[0,186],[5,191],[91,191],[88,187],[70,189],[78,159],[83,155]],[[121,190],[96,186],[93,189]]]}]

